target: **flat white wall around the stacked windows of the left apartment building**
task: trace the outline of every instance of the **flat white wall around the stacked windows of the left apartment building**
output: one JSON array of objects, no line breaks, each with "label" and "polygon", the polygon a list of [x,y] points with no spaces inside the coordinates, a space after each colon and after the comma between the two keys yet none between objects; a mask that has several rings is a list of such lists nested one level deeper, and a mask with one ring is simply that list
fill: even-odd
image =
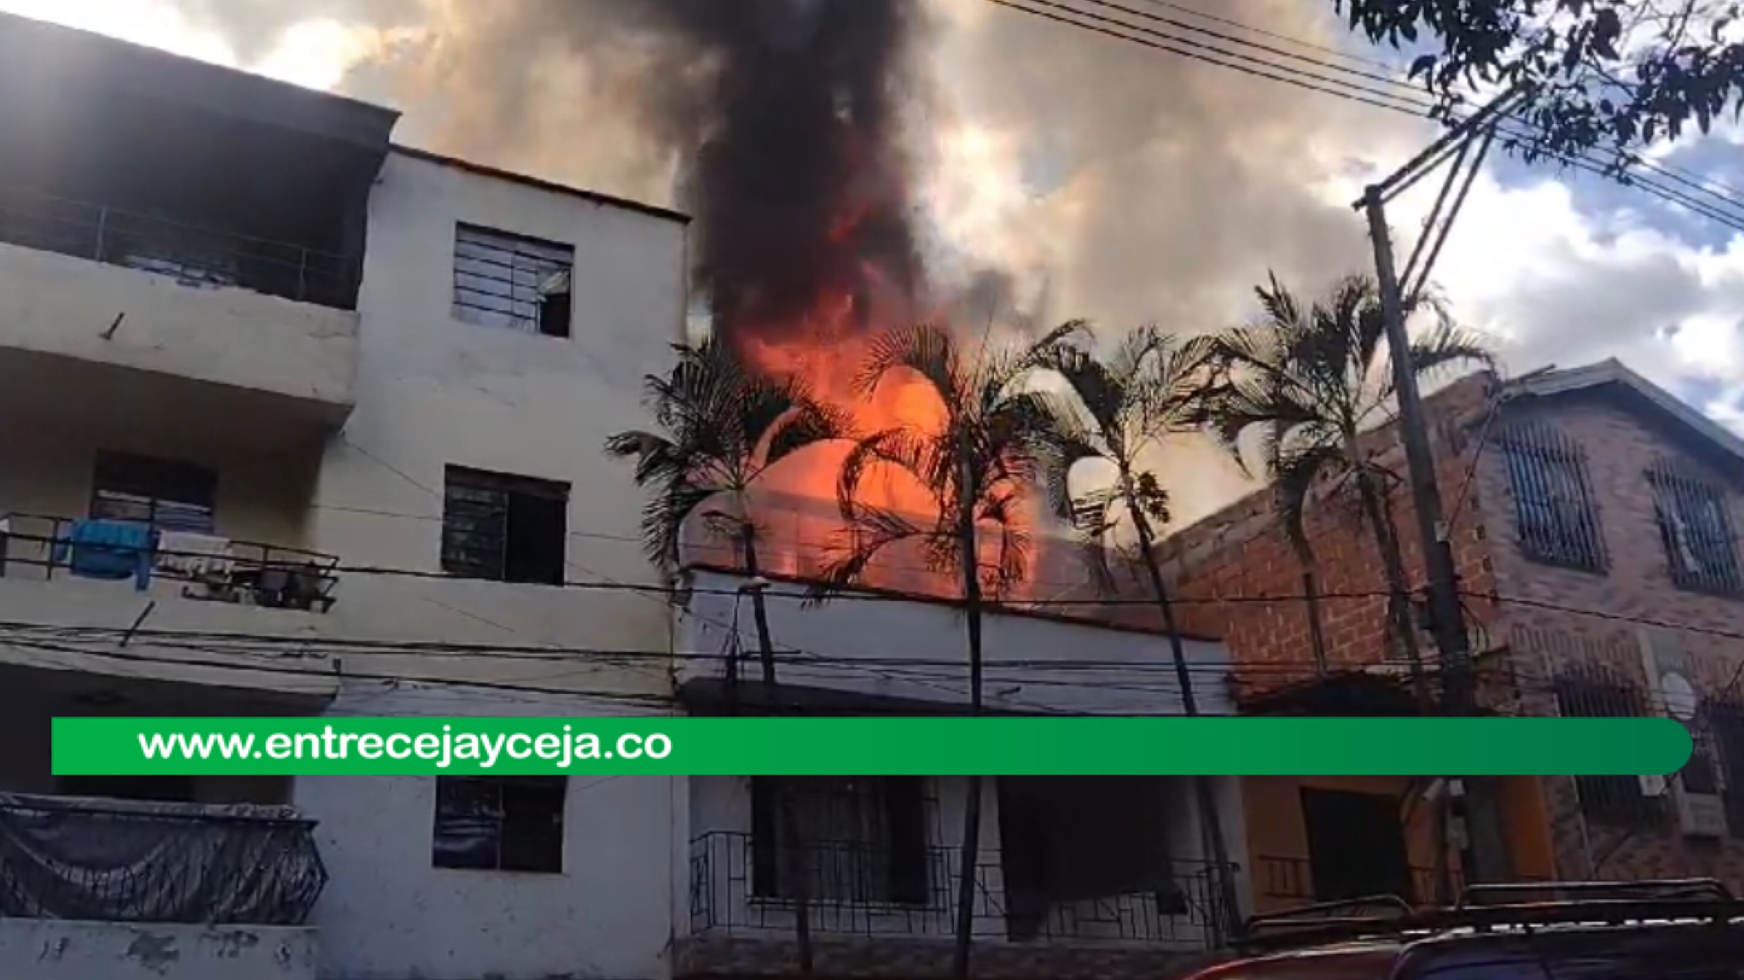
[{"label": "flat white wall around the stacked windows of the left apartment building", "polygon": [[[569,338],[452,316],[455,223],[576,248]],[[330,445],[310,544],[351,567],[438,574],[443,469],[570,483],[569,577],[657,584],[638,541],[642,492],[602,453],[649,424],[642,377],[670,366],[682,337],[685,228],[678,221],[494,180],[403,153],[370,204],[358,408]],[[670,650],[659,595],[347,575],[337,635],[513,647]],[[576,656],[345,657],[347,673],[474,678],[527,687],[670,694],[663,659]],[[347,684],[340,715],[541,715],[637,711],[626,701]],[[682,900],[685,788],[668,778],[572,778],[565,874],[431,867],[434,778],[298,779],[321,821],[333,881],[317,909],[323,975],[347,980],[666,975]]]}]

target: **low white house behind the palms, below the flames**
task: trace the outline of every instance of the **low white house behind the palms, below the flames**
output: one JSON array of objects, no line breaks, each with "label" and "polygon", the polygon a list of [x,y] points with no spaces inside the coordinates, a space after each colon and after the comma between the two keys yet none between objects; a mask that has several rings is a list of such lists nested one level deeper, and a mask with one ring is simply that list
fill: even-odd
[{"label": "low white house behind the palms, below the flames", "polygon": [[[677,616],[678,698],[698,715],[961,715],[970,706],[964,619],[924,555],[893,551],[865,588],[807,602],[820,549],[839,541],[830,502],[766,495],[762,581],[746,579],[699,521]],[[926,527],[924,521],[919,527]],[[1168,642],[1139,616],[1107,621],[1083,596],[1069,548],[1038,542],[1029,588],[982,623],[984,710],[1003,715],[1181,713]],[[762,680],[752,593],[766,596],[776,687]],[[1121,607],[1123,610],[1127,607]],[[1196,708],[1230,715],[1228,650],[1184,638]],[[722,654],[739,657],[729,680]],[[689,921],[677,977],[792,971],[802,874],[818,970],[935,977],[950,964],[968,778],[807,778],[783,813],[780,783],[689,779]],[[1186,778],[985,778],[975,856],[977,971],[1010,978],[1167,975],[1219,945],[1252,909],[1240,781],[1210,779],[1231,893]],[[787,854],[781,854],[781,849]],[[795,865],[794,854],[802,863]],[[799,872],[804,867],[804,872]],[[1219,912],[1235,903],[1235,912]],[[823,966],[827,964],[827,966]]]}]

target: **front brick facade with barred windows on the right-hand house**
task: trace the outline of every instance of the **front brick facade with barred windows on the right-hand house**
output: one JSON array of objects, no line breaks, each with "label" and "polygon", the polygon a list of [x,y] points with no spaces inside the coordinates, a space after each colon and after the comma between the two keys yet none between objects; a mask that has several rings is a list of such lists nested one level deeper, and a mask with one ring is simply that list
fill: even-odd
[{"label": "front brick facade with barred windows on the right-hand house", "polygon": [[[1690,680],[1704,696],[1737,698],[1744,670],[1744,602],[1699,595],[1672,584],[1664,542],[1653,518],[1645,471],[1672,457],[1721,487],[1737,487],[1706,443],[1666,424],[1615,394],[1566,394],[1514,405],[1510,419],[1556,425],[1585,450],[1608,570],[1575,572],[1531,561],[1514,544],[1512,506],[1495,507],[1493,563],[1503,596],[1502,631],[1512,647],[1523,708],[1554,713],[1545,687],[1578,664],[1604,664],[1652,694],[1641,661],[1643,626],[1662,624],[1690,657]],[[1510,500],[1498,460],[1481,467],[1489,499]],[[1728,493],[1734,527],[1744,528],[1744,500]],[[1577,783],[1545,778],[1556,863],[1561,877],[1718,877],[1744,891],[1744,840],[1686,839],[1676,823],[1666,828],[1624,828],[1584,820]],[[1737,828],[1735,834],[1744,834]]]}]

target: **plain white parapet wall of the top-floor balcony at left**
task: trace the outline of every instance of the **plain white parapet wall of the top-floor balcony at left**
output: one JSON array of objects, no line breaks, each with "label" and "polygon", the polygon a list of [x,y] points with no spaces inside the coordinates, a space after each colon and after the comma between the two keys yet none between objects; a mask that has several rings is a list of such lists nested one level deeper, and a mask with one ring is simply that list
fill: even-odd
[{"label": "plain white parapet wall of the top-floor balcony at left", "polygon": [[0,323],[10,350],[272,392],[331,417],[354,396],[358,314],[248,289],[0,244]]}]

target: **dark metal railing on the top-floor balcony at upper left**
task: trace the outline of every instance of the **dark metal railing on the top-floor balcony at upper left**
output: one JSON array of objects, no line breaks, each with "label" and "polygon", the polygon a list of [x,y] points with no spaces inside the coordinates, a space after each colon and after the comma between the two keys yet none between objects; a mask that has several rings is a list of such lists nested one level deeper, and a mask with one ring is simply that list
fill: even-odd
[{"label": "dark metal railing on the top-floor balcony at upper left", "polygon": [[356,258],[89,201],[3,192],[0,242],[138,269],[185,286],[234,286],[321,307],[358,307]]}]

